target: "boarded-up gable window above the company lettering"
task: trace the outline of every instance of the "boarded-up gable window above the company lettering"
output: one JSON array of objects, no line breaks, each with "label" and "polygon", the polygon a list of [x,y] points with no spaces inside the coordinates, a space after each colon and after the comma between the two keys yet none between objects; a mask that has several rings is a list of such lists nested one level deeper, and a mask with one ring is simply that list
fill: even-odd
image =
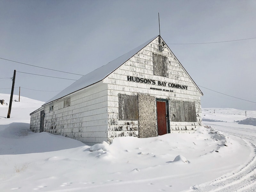
[{"label": "boarded-up gable window above the company lettering", "polygon": [[168,77],[167,57],[153,53],[154,75]]}]

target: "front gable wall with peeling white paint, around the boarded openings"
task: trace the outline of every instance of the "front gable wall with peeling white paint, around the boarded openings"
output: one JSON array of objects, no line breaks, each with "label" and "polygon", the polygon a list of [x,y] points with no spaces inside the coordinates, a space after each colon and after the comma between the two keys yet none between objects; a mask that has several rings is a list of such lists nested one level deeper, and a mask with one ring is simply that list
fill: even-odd
[{"label": "front gable wall with peeling white paint, around the boarded openings", "polygon": [[[167,77],[154,75],[153,53],[167,57],[167,59],[164,57],[168,68],[167,74],[164,75]],[[128,81],[127,76],[155,80],[156,84]],[[166,86],[158,85],[158,81],[167,82],[167,84]],[[108,142],[111,142],[116,136],[138,136],[139,134],[137,120],[118,120],[118,94],[138,95],[143,93],[155,98],[167,99],[170,103],[173,100],[194,102],[196,122],[173,122],[169,116],[171,132],[190,132],[202,123],[201,92],[171,50],[165,48],[163,52],[158,51],[158,38],[116,69],[103,82],[108,83]],[[185,85],[187,89],[172,88],[168,86],[168,83]],[[170,115],[172,115],[171,110]]]}]

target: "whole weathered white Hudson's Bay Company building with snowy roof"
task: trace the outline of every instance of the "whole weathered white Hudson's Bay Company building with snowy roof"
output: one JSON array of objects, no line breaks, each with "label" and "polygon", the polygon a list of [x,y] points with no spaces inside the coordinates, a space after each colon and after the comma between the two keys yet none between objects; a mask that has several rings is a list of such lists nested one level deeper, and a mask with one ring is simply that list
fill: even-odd
[{"label": "whole weathered white Hudson's Bay Company building with snowy roof", "polygon": [[90,144],[193,132],[202,124],[202,95],[156,36],[48,100],[30,114],[30,129]]}]

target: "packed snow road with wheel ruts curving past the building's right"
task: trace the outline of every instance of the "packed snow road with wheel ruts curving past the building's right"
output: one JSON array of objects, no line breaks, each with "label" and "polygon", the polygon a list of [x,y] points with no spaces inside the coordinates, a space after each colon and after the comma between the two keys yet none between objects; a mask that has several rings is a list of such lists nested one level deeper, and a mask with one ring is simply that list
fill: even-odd
[{"label": "packed snow road with wheel ruts curving past the building's right", "polygon": [[[228,122],[204,122],[217,130],[242,138],[251,146],[252,158],[238,172],[223,176],[216,180],[191,187],[186,192],[249,192],[256,191],[256,127],[252,125],[241,125]],[[236,159],[230,159],[230,163]]]}]

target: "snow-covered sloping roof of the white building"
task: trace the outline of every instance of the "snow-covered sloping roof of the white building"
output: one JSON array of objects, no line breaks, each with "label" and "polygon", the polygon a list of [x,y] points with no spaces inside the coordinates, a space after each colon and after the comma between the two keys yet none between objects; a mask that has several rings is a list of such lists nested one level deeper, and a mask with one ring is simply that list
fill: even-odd
[{"label": "snow-covered sloping roof of the white building", "polygon": [[144,44],[141,44],[140,46],[138,46],[135,49],[133,49],[132,51],[118,57],[117,59],[110,61],[108,64],[103,65],[102,67],[97,68],[94,71],[82,76],[76,82],[69,85],[66,89],[62,90],[57,95],[55,95],[52,99],[46,101],[44,103],[44,105],[47,103],[50,103],[54,100],[60,99],[70,93],[76,92],[80,89],[83,89],[89,85],[92,85],[94,83],[97,83],[97,82],[103,80],[106,76],[108,76],[110,73],[112,73],[118,67],[120,67],[124,62],[129,60],[133,55],[135,55],[137,52],[139,52],[141,49],[143,49],[145,46],[147,46],[156,37],[157,36],[153,37],[152,39],[148,40]]}]

